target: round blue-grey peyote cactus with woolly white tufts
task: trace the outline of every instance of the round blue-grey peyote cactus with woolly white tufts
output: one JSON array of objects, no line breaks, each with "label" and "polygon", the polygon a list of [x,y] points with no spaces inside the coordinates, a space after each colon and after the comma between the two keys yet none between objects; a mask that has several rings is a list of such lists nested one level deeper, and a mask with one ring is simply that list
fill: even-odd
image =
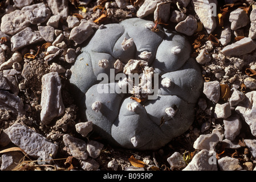
[{"label": "round blue-grey peyote cactus with woolly white tufts", "polygon": [[[186,38],[160,26],[152,31],[153,26],[139,18],[107,24],[71,67],[70,83],[86,118],[102,138],[124,148],[156,150],[184,133],[202,91]],[[116,80],[122,72],[140,74],[139,85],[129,77]],[[108,75],[107,82],[97,79],[100,73]],[[155,98],[149,99],[152,84]],[[116,92],[127,85],[129,93]]]}]

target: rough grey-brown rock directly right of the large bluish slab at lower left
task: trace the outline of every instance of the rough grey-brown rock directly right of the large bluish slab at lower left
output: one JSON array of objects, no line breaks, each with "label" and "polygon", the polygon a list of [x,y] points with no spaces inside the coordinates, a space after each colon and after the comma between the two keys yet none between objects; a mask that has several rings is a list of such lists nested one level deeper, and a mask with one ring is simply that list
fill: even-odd
[{"label": "rough grey-brown rock directly right of the large bluish slab at lower left", "polygon": [[88,155],[86,153],[86,142],[71,135],[63,135],[63,142],[69,148],[72,156],[79,160],[86,160]]}]

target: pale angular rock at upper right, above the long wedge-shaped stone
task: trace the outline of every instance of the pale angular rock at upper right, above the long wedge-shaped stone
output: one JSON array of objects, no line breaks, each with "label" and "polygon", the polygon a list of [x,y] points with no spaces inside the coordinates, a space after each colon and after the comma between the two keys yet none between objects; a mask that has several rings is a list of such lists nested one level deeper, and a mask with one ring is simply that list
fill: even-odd
[{"label": "pale angular rock at upper right, above the long wedge-shaped stone", "polygon": [[229,22],[231,22],[231,30],[237,30],[249,24],[250,19],[244,10],[238,8],[230,13]]}]

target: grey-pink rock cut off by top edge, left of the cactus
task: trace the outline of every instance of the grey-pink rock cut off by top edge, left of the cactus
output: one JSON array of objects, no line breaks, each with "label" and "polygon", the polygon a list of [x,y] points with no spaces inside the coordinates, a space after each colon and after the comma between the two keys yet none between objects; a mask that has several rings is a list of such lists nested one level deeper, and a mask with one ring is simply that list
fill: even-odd
[{"label": "grey-pink rock cut off by top edge, left of the cactus", "polygon": [[48,6],[52,14],[67,18],[68,16],[68,1],[66,0],[47,0]]}]

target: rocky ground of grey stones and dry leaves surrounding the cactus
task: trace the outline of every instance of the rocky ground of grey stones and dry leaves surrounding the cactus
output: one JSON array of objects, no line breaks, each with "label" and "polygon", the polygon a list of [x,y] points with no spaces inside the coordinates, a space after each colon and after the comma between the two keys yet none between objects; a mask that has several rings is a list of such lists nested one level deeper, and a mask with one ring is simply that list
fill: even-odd
[{"label": "rocky ground of grey stones and dry leaves surrounding the cactus", "polygon": [[[255,5],[252,0],[1,1],[1,170],[255,170]],[[157,151],[104,143],[91,122],[80,121],[66,86],[88,36],[101,24],[133,17],[188,36],[205,80],[193,125]]]}]

